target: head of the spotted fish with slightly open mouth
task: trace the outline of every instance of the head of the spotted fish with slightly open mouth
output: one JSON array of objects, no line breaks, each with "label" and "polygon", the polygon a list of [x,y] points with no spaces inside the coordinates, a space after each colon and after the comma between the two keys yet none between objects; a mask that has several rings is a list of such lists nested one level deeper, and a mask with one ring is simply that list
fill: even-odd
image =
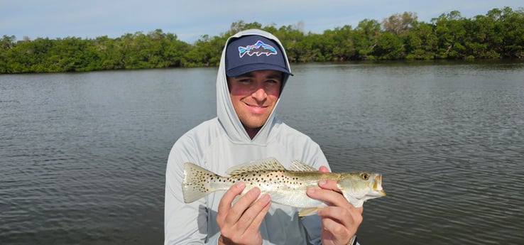
[{"label": "head of the spotted fish with slightly open mouth", "polygon": [[366,200],[386,195],[379,173],[346,173],[341,176],[338,185],[346,200],[354,207],[361,207]]}]

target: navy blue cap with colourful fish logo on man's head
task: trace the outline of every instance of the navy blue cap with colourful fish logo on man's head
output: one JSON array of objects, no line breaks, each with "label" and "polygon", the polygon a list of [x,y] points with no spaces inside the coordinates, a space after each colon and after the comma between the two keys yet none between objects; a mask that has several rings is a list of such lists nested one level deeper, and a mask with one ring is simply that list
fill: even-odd
[{"label": "navy blue cap with colourful fish logo on man's head", "polygon": [[293,75],[275,41],[263,36],[242,36],[226,48],[226,75],[237,77],[255,70],[278,70]]}]

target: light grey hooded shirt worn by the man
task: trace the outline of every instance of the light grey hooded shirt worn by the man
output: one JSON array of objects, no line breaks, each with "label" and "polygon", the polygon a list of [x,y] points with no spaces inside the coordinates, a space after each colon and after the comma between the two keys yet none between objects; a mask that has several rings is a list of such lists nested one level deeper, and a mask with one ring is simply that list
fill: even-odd
[{"label": "light grey hooded shirt worn by the man", "polygon": [[[231,38],[244,35],[275,40],[284,57],[287,57],[282,44],[271,33],[247,30]],[[165,244],[217,244],[220,236],[216,220],[224,192],[214,192],[186,204],[181,190],[185,162],[195,163],[219,175],[226,175],[226,170],[234,165],[268,157],[278,159],[285,167],[292,160],[309,163],[316,169],[327,165],[317,143],[278,119],[278,102],[258,134],[253,139],[249,138],[229,97],[225,46],[217,75],[217,117],[187,131],[175,142],[169,154],[165,173]],[[289,65],[287,58],[286,62]],[[282,87],[285,87],[287,78]],[[320,219],[317,215],[298,217],[297,209],[272,203],[260,232],[263,244],[297,245],[307,244],[307,240],[320,244]]]}]

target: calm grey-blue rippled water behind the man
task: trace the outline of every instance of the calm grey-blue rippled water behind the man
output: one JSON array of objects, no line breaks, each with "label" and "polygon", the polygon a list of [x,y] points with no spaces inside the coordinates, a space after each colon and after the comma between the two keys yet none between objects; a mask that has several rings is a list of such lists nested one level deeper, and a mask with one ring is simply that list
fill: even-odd
[{"label": "calm grey-blue rippled water behind the man", "polygon": [[[280,117],[383,173],[361,244],[524,244],[524,62],[294,65]],[[0,244],[161,244],[216,68],[0,75]]]}]

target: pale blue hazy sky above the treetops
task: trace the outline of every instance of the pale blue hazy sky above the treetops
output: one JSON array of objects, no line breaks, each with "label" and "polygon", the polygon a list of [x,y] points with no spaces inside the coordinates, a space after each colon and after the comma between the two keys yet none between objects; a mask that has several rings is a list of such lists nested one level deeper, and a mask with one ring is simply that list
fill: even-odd
[{"label": "pale blue hazy sky above the treetops", "polygon": [[231,23],[296,26],[322,33],[342,26],[355,28],[368,18],[379,22],[395,13],[413,12],[430,23],[442,13],[462,17],[486,15],[522,0],[0,0],[0,36],[36,38],[117,38],[126,33],[161,29],[193,43],[204,35],[219,36]]}]

